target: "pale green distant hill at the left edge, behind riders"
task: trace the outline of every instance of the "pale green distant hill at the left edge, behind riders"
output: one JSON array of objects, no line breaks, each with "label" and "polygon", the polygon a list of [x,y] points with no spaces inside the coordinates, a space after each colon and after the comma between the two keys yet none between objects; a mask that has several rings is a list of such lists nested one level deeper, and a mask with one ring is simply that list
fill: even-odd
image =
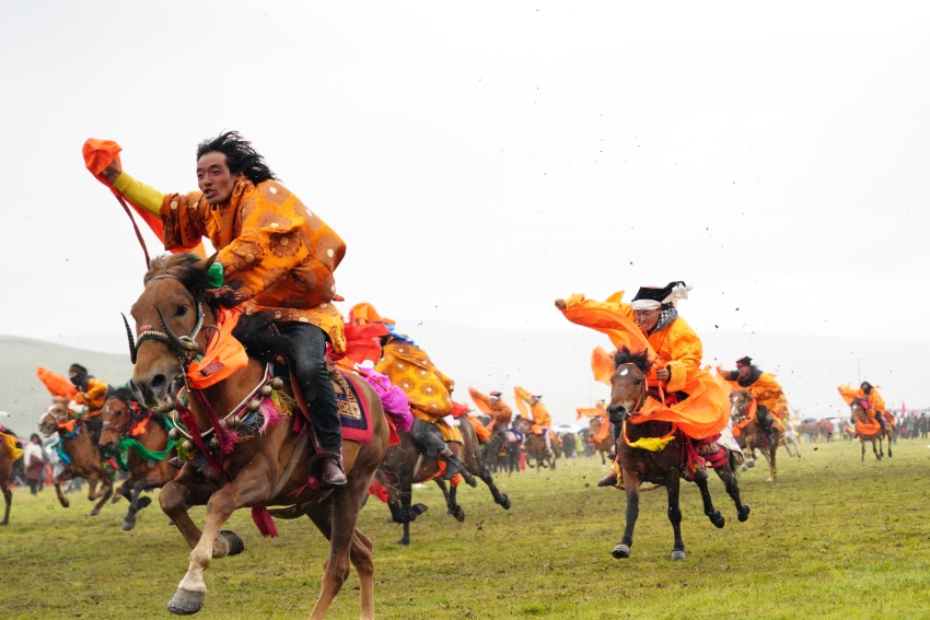
[{"label": "pale green distant hill at the left edge, behind riders", "polygon": [[36,376],[39,366],[68,376],[68,366],[79,363],[107,383],[124,383],[132,374],[129,353],[83,351],[53,342],[0,336],[0,410],[10,413],[4,424],[19,435],[36,430],[39,414],[50,405],[50,395]]}]

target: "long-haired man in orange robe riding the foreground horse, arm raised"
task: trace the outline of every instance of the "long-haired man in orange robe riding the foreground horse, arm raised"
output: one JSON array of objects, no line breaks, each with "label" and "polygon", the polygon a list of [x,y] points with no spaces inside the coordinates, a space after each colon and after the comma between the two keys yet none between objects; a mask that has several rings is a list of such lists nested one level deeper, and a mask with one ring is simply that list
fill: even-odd
[{"label": "long-haired man in orange robe riding the foreground horse, arm raised", "polygon": [[196,172],[200,191],[187,195],[164,195],[139,183],[116,157],[102,176],[161,219],[165,249],[194,248],[208,237],[218,250],[214,265],[222,267],[223,284],[237,293],[246,312],[274,313],[291,342],[294,391],[303,395],[319,443],[309,464],[323,487],[345,484],[342,434],[325,353],[327,342],[336,354],[345,349],[342,316],[332,302],[339,300],[333,271],[346,245],[235,131],[197,147]]}]

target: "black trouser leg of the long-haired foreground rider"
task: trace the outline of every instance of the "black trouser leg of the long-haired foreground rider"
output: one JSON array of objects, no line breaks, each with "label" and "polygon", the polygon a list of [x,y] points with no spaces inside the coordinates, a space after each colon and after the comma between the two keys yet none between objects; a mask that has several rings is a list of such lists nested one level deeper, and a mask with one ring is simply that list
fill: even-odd
[{"label": "black trouser leg of the long-haired foreground rider", "polygon": [[288,361],[310,409],[316,438],[324,451],[339,454],[342,451],[342,429],[336,406],[336,390],[325,359],[329,338],[310,323],[288,321],[279,325],[278,329],[291,341],[291,356]]}]

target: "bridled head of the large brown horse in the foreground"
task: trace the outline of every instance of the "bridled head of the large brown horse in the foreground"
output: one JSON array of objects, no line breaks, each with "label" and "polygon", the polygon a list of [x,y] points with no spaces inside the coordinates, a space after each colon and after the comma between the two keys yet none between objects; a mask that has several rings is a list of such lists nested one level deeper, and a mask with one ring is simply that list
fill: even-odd
[{"label": "bridled head of the large brown horse in the foreground", "polygon": [[[201,260],[188,254],[153,259],[142,294],[132,304],[138,340],[127,321],[133,363],[129,385],[138,401],[152,411],[174,409],[187,365],[206,349],[206,332],[214,326],[211,304],[233,305],[221,296],[208,303],[207,291],[211,286],[207,270],[214,259],[216,256]],[[144,343],[148,346],[142,347]]]}]

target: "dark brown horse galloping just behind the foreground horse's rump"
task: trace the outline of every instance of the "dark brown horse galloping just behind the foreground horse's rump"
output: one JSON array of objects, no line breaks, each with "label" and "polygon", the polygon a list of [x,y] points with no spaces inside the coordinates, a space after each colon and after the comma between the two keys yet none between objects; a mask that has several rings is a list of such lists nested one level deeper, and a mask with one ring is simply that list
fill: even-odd
[{"label": "dark brown horse galloping just behind the foreground horse's rump", "polygon": [[[458,418],[458,421],[461,423],[458,429],[462,431],[464,441],[461,454],[458,454],[458,446],[455,445],[455,442],[452,442],[450,447],[456,452],[462,463],[465,464],[465,468],[488,486],[491,495],[495,498],[495,503],[503,510],[510,510],[510,498],[498,490],[490,468],[485,464],[481,445],[472,421],[467,416]],[[442,489],[449,514],[462,522],[465,520],[465,511],[457,503],[458,488],[452,487],[450,489],[441,478],[438,478],[440,459],[434,456],[427,456],[418,451],[410,433],[398,430],[397,436],[400,438],[400,443],[387,448],[387,454],[385,454],[379,468],[377,477],[379,481],[387,489],[387,507],[391,508],[391,517],[395,523],[404,526],[403,535],[397,543],[409,545],[410,523],[429,507],[426,504],[412,504],[414,484],[435,480],[439,488]]]}]

